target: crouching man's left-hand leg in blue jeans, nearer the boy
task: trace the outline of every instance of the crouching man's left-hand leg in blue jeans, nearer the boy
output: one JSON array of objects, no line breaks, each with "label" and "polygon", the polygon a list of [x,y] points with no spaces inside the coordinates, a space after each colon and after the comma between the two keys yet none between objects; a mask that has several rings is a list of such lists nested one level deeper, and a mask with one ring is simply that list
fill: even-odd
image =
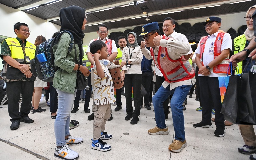
[{"label": "crouching man's left-hand leg in blue jeans, nearer the boy", "polygon": [[163,102],[173,92],[174,92],[174,90],[170,91],[170,86],[167,86],[166,88],[161,86],[157,90],[155,95],[152,97],[152,102],[153,102],[153,106],[154,106],[154,110],[155,110],[156,127],[160,128],[160,129],[166,128]]}]

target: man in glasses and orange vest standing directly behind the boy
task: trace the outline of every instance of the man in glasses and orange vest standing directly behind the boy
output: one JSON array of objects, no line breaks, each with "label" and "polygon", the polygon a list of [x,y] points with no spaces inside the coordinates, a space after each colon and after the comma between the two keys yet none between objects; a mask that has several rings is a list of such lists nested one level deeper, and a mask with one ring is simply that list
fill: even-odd
[{"label": "man in glasses and orange vest standing directly behind the boy", "polygon": [[[88,48],[86,50],[86,54],[87,54],[87,57],[88,57],[88,60],[91,62],[91,72],[93,73],[93,64],[94,64],[94,59],[92,57],[92,53],[90,52],[90,44],[93,42],[93,41],[96,41],[96,40],[101,40],[103,41],[104,43],[107,44],[107,47],[108,47],[108,59],[110,62],[113,62],[115,60],[115,58],[117,57],[117,48],[116,48],[116,45],[115,45],[115,41],[111,40],[111,39],[108,39],[107,35],[108,35],[108,27],[105,25],[105,24],[101,24],[98,26],[98,31],[97,31],[97,34],[99,35],[99,37],[97,39],[93,39],[90,41],[89,45],[88,45]],[[92,86],[94,86],[93,82],[94,82],[94,74],[91,74],[91,82],[92,82]],[[121,91],[121,90],[120,90]],[[119,94],[119,92],[118,92]],[[121,92],[120,92],[120,101],[121,101]],[[88,120],[89,121],[92,121],[93,120],[93,117],[94,117],[94,112],[96,111],[96,106],[95,105],[92,105],[92,114],[88,116]],[[112,109],[110,108],[110,111],[112,113]],[[111,121],[113,119],[112,117],[112,114],[110,114],[110,119],[108,119],[109,121]]]}]

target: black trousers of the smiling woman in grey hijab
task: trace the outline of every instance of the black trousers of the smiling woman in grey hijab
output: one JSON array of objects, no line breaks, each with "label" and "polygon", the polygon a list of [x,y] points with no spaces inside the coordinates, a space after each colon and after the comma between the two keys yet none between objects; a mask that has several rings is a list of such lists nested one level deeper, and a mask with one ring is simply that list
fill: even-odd
[{"label": "black trousers of the smiling woman in grey hijab", "polygon": [[[138,117],[140,115],[141,104],[141,74],[125,74],[125,101],[126,101],[126,113],[127,115]],[[132,87],[133,87],[133,99],[134,99],[134,112],[132,107]]]}]

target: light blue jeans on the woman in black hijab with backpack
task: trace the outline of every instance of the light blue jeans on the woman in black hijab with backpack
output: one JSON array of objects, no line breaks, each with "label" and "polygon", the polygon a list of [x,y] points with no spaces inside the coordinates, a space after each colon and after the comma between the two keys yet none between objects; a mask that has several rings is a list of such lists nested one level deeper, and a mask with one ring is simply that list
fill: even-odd
[{"label": "light blue jeans on the woman in black hijab with backpack", "polygon": [[69,117],[74,103],[74,94],[56,89],[58,93],[58,113],[54,123],[54,132],[57,146],[66,144],[65,136],[69,135]]}]

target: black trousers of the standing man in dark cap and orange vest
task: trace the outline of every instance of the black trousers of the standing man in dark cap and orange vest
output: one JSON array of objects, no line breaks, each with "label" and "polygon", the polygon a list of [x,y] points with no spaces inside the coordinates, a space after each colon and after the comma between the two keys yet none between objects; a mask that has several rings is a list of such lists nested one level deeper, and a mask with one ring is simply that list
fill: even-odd
[{"label": "black trousers of the standing man in dark cap and orange vest", "polygon": [[212,105],[215,109],[215,125],[225,129],[224,115],[221,113],[221,95],[218,77],[199,76],[202,109],[202,122],[211,123]]}]

